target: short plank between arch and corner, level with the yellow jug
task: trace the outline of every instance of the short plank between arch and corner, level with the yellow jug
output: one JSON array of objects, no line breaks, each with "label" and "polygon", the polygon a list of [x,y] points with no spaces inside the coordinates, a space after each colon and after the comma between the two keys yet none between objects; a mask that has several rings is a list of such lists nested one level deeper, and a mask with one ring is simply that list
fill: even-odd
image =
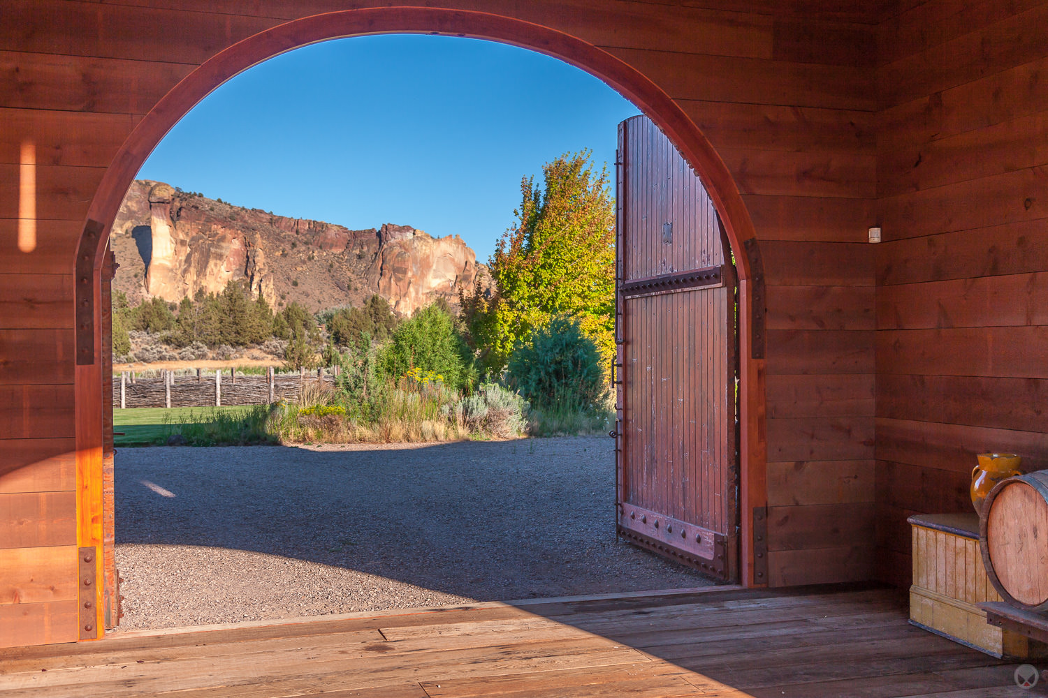
[{"label": "short plank between arch and corner, level with the yellow jug", "polygon": [[874,474],[872,459],[769,463],[768,506],[873,502]]}]

